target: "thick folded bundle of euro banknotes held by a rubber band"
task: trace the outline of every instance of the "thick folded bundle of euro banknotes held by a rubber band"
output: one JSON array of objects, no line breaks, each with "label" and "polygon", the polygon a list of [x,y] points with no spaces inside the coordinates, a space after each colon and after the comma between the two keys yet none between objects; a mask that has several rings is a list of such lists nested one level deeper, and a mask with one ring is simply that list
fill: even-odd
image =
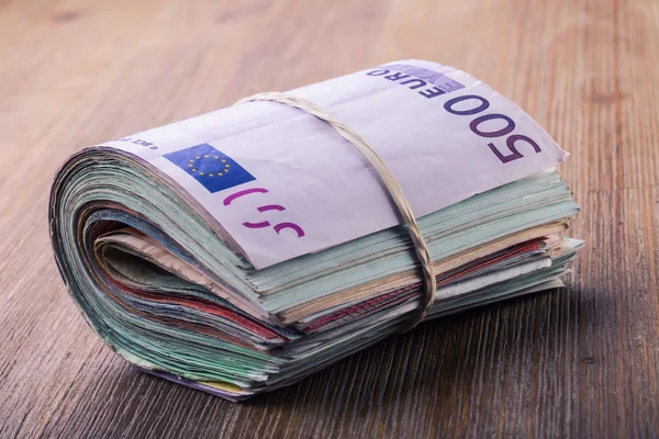
[{"label": "thick folded bundle of euro banknotes held by a rubber band", "polygon": [[49,226],[127,361],[231,401],[387,336],[562,285],[565,153],[469,75],[382,65],[71,156]]}]

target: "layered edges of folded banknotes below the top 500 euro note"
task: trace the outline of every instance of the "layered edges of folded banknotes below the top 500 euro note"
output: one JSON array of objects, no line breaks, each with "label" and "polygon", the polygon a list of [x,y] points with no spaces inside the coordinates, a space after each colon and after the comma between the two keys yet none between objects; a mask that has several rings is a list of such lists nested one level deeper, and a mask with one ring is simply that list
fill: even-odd
[{"label": "layered edges of folded banknotes below the top 500 euro note", "polygon": [[[583,243],[558,235],[578,211],[547,169],[420,217],[437,281],[426,319],[560,286]],[[49,217],[62,275],[103,340],[152,373],[232,401],[401,330],[420,306],[405,227],[257,269],[185,188],[115,147],[67,160]]]}]

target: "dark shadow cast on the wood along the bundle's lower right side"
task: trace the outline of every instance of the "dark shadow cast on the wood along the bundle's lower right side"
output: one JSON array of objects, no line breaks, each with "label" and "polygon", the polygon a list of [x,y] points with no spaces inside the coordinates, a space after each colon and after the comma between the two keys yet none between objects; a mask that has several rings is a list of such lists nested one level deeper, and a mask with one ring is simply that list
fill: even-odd
[{"label": "dark shadow cast on the wood along the bundle's lower right side", "polygon": [[577,336],[599,330],[595,300],[597,313],[613,302],[611,294],[554,289],[442,317],[243,404],[301,412],[351,405],[358,417],[401,404],[449,412],[446,405],[532,396],[541,376],[569,380],[580,363],[595,361]]}]

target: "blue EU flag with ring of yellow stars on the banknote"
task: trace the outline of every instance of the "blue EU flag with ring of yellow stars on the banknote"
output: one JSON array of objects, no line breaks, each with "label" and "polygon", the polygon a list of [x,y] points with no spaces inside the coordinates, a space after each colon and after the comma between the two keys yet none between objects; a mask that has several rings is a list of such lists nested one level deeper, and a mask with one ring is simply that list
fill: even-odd
[{"label": "blue EU flag with ring of yellow stars on the banknote", "polygon": [[231,157],[209,144],[191,146],[164,157],[194,177],[211,193],[256,180]]}]

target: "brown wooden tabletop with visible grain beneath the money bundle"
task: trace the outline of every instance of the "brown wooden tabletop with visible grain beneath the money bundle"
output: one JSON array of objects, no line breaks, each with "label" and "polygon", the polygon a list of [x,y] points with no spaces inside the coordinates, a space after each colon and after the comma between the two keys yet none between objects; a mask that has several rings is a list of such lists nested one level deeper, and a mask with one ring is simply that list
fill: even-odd
[{"label": "brown wooden tabletop with visible grain beneath the money bundle", "polygon": [[[659,434],[656,0],[0,1],[0,437]],[[469,71],[572,156],[571,286],[396,336],[235,405],[139,373],[48,243],[82,146],[401,58]]]}]

